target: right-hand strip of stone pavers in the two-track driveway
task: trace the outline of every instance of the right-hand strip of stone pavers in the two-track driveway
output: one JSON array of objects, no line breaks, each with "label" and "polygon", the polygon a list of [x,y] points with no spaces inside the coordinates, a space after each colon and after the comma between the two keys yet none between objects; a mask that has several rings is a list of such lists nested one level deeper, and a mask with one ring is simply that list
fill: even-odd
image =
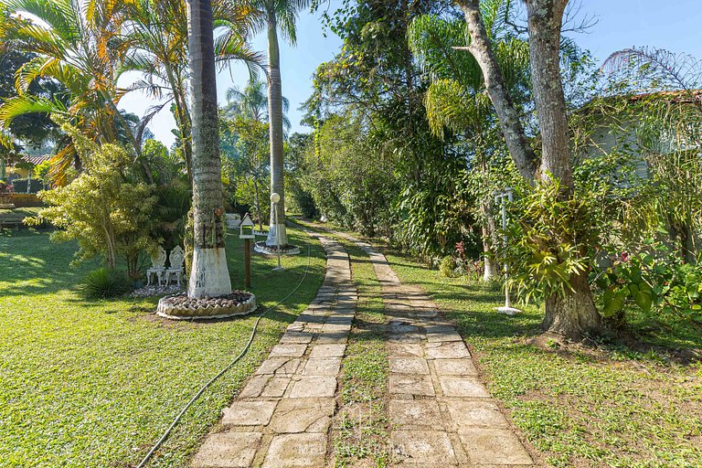
[{"label": "right-hand strip of stone pavers in the two-track driveway", "polygon": [[389,418],[396,466],[536,466],[478,378],[473,358],[438,306],[365,250],[382,285],[388,335]]}]

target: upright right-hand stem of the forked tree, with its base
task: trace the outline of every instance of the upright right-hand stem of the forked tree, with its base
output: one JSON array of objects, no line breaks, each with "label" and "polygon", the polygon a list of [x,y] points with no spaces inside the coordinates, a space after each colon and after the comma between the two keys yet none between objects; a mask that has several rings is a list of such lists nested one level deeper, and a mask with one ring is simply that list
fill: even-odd
[{"label": "upright right-hand stem of the forked tree, with its base", "polygon": [[[541,128],[541,175],[555,177],[573,197],[573,166],[566,100],[560,80],[560,27],[568,0],[528,0],[529,60],[538,123]],[[580,252],[585,255],[587,252]],[[570,338],[600,328],[587,273],[571,275],[564,296],[547,299],[544,328]]]}]

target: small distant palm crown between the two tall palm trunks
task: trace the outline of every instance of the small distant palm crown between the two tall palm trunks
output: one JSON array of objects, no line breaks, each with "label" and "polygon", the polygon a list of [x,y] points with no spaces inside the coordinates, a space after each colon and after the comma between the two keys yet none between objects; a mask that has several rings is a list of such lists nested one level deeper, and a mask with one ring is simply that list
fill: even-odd
[{"label": "small distant palm crown between the two tall palm trunks", "polygon": [[[290,109],[290,101],[282,97],[282,126],[290,130],[290,120],[285,115]],[[254,122],[268,122],[268,90],[266,83],[252,78],[243,90],[236,87],[227,90],[225,113],[229,118],[241,116]]]}]

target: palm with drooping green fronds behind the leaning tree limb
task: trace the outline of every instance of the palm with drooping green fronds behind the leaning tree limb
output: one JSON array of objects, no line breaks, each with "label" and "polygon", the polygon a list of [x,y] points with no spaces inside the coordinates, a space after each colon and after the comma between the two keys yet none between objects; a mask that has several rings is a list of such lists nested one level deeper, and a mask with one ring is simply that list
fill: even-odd
[{"label": "palm with drooping green fronds behind the leaning tree limb", "polygon": [[[498,60],[511,90],[524,88],[528,78],[528,45],[512,37],[500,20],[505,0],[481,3],[484,23],[489,37],[499,45]],[[480,178],[479,218],[483,220],[484,280],[498,275],[493,260],[496,229],[492,209],[493,190],[488,147],[498,132],[489,98],[484,93],[483,73],[472,55],[461,48],[468,36],[465,23],[439,16],[418,16],[410,24],[410,50],[430,76],[430,86],[424,97],[427,119],[432,133],[443,138],[444,128],[464,134],[472,144],[473,166]]]}]

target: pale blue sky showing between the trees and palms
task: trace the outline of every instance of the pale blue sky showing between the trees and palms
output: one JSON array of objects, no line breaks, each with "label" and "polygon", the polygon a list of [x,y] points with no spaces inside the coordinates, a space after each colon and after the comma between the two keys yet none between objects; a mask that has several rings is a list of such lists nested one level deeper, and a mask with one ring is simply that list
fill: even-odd
[{"label": "pale blue sky showing between the trees and palms", "polygon": [[[331,8],[338,0],[332,0]],[[633,46],[652,46],[673,52],[686,52],[702,59],[702,8],[700,0],[582,0],[580,15],[594,16],[597,24],[586,33],[571,34],[580,47],[588,48],[600,60],[610,53]],[[298,108],[312,91],[312,75],[317,66],[341,48],[341,40],[324,31],[319,15],[304,13],[298,21],[296,47],[281,44],[282,92],[290,100],[288,117],[292,132],[308,132],[300,125]],[[324,37],[324,32],[326,37]],[[266,50],[264,35],[256,37],[253,47]],[[233,80],[232,80],[233,78]],[[218,98],[225,101],[225,91],[232,85],[243,87],[249,79],[242,66],[234,66],[218,76]],[[143,115],[153,102],[133,93],[122,99],[122,107]],[[174,141],[174,126],[165,109],[152,121],[150,128],[157,139],[167,145]]]}]

